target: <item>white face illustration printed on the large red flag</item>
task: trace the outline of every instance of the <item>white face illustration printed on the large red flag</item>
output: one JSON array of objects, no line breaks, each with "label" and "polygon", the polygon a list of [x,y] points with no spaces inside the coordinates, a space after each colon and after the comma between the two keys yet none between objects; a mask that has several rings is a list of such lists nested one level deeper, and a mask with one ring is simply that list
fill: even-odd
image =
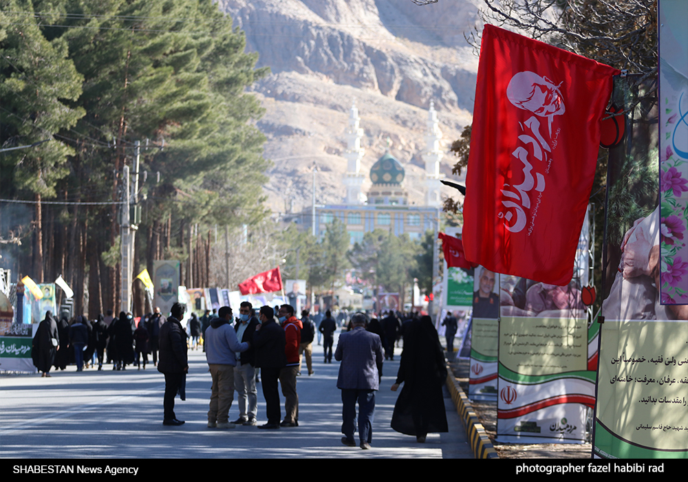
[{"label": "white face illustration printed on the large red flag", "polygon": [[535,72],[519,72],[506,87],[506,97],[519,109],[551,119],[566,111],[559,85],[554,85],[548,78]]}]

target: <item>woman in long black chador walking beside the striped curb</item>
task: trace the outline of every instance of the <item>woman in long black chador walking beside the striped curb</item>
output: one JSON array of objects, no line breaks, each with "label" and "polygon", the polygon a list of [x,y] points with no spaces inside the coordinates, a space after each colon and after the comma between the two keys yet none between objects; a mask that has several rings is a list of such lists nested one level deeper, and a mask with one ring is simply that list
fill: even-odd
[{"label": "woman in long black chador walking beside the striped curb", "polygon": [[429,316],[409,322],[404,338],[396,383],[404,387],[394,405],[391,428],[407,435],[416,435],[424,442],[429,432],[447,432],[442,384],[447,380],[447,366],[440,338]]}]

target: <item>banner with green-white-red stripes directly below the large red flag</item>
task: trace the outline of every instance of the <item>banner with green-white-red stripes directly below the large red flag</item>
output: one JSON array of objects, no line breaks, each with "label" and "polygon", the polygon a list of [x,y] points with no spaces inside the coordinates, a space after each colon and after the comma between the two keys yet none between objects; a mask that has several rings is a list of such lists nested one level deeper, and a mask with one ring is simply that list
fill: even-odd
[{"label": "banner with green-white-red stripes directly below the large red flag", "polygon": [[[589,230],[582,230],[578,245],[589,241]],[[499,441],[585,442],[588,410],[594,406],[598,330],[588,323],[581,298],[588,284],[586,256],[576,257],[579,276],[566,286],[500,276]]]}]

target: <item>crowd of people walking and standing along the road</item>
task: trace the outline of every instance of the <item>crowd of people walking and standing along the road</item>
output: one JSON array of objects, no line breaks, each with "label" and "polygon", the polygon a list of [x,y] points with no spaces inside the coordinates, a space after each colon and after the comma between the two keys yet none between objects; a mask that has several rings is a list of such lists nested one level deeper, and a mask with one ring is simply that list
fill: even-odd
[{"label": "crowd of people walking and standing along the road", "polygon": [[[258,428],[276,430],[299,426],[297,377],[301,375],[303,358],[308,375],[314,374],[312,344],[319,333],[324,362],[332,363],[333,355],[341,362],[337,387],[341,389],[343,403],[342,442],[346,446],[356,445],[358,418],[360,446],[369,449],[383,358],[394,360],[394,349],[403,337],[406,341],[400,369],[391,390],[396,391],[400,384],[404,387],[394,409],[392,428],[416,435],[419,442],[425,440],[428,432],[447,431],[441,390],[447,372],[438,334],[429,316],[404,316],[388,311],[372,319],[359,313],[347,320],[348,317],[335,318],[326,311],[316,325],[307,310],[301,312],[299,319],[291,305],[254,310],[251,303],[243,302],[236,318],[230,307],[221,307],[217,312],[206,310],[200,318],[192,314],[184,328],[181,320],[185,311],[184,305],[175,303],[166,317],[156,308],[155,313],[141,318],[138,325],[125,312],[115,318],[108,311],[96,320],[87,320],[85,316],[69,320],[65,312],[58,322],[47,311],[34,337],[34,364],[43,376],[50,376],[52,366],[64,370],[72,362],[77,371],[84,366],[95,368],[96,364],[102,370],[107,363],[112,364],[113,370],[125,370],[130,364],[145,369],[150,354],[153,365],[165,377],[163,424],[180,426],[184,421],[178,419],[174,406],[178,395],[185,399],[188,350],[203,349],[212,379],[208,428],[257,426],[260,383],[266,423]],[[344,332],[333,353],[338,329]],[[284,417],[280,386],[285,397]],[[235,391],[239,418],[230,421]]]}]

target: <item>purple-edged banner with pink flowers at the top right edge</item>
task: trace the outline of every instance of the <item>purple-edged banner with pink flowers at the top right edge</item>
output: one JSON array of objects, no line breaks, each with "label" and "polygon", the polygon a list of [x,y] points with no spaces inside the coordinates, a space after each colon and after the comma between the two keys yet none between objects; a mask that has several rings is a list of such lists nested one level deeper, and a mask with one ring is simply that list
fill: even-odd
[{"label": "purple-edged banner with pink flowers at the top right edge", "polygon": [[688,39],[686,1],[659,4],[661,300],[688,303]]}]

